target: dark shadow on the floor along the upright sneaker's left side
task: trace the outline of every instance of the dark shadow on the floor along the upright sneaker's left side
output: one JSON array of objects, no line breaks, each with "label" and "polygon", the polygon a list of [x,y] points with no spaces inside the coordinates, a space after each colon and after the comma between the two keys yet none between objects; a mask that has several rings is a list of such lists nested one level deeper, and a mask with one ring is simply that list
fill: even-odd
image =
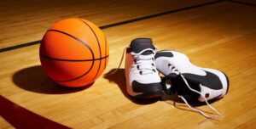
[{"label": "dark shadow on the floor along the upright sneaker's left side", "polygon": [[[120,91],[125,95],[126,98],[129,98],[133,103],[136,104],[154,104],[159,101],[160,98],[132,98],[126,91],[126,81],[125,81],[125,69],[118,69],[115,73],[113,71],[116,69],[109,70],[107,74],[104,75],[104,78],[108,79],[110,82],[114,82],[119,86]],[[113,73],[113,74],[111,74]]]}]

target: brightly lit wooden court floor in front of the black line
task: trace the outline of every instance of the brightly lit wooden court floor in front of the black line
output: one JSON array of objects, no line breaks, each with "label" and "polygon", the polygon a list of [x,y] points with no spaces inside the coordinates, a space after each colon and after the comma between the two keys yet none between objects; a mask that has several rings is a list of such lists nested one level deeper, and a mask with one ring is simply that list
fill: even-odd
[{"label": "brightly lit wooden court floor in front of the black line", "polygon": [[39,66],[38,45],[0,53],[0,94],[74,128],[246,127],[256,118],[255,14],[256,8],[224,2],[104,30],[110,45],[105,73],[117,67],[123,49],[136,37],[152,37],[160,49],[176,49],[201,67],[223,70],[230,91],[212,103],[222,113],[218,120],[184,110],[183,103],[177,103],[178,109],[172,100],[143,104],[127,98],[123,69],[101,76],[87,89],[57,87]]}]

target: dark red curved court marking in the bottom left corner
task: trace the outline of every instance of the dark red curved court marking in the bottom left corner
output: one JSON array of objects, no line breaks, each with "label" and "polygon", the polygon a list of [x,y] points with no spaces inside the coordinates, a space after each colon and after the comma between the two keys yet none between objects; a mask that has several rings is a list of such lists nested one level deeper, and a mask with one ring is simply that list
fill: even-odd
[{"label": "dark red curved court marking in the bottom left corner", "polygon": [[0,95],[0,115],[15,128],[64,128],[69,129],[55,121],[50,121],[44,116],[37,115],[28,109],[20,107]]}]

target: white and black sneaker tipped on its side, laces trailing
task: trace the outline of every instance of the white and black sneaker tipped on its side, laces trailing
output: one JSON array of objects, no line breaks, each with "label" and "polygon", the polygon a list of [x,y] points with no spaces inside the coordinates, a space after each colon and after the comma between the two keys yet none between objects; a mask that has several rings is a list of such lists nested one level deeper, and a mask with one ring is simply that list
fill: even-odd
[{"label": "white and black sneaker tipped on its side, laces trailing", "polygon": [[208,104],[207,100],[222,98],[228,92],[229,79],[223,72],[198,67],[183,53],[172,50],[160,51],[155,54],[155,64],[157,70],[165,76],[162,84],[166,93],[177,93],[186,104],[186,100]]}]

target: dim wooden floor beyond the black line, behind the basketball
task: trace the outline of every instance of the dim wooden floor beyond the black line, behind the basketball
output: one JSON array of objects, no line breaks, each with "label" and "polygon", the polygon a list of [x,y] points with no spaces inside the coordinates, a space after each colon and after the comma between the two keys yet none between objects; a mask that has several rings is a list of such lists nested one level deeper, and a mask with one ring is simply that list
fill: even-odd
[{"label": "dim wooden floor beyond the black line, behind the basketball", "polygon": [[[210,1],[213,0],[207,0]],[[50,25],[66,18],[84,18],[102,26],[207,2],[203,0],[1,1],[0,48],[41,40]]]}]

